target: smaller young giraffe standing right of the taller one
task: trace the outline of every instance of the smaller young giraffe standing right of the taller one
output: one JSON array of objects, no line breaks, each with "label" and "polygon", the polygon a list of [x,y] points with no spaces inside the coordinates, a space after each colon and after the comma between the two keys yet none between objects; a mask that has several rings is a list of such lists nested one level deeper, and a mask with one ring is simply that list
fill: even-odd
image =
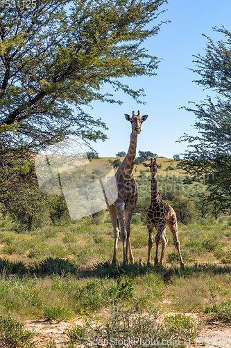
[{"label": "smaller young giraffe standing right of the taller one", "polygon": [[151,171],[151,205],[147,212],[147,228],[149,233],[148,239],[148,263],[151,260],[151,249],[153,247],[153,228],[157,230],[157,235],[155,236],[155,262],[158,263],[158,246],[161,239],[162,251],[160,256],[160,264],[163,264],[164,251],[168,243],[168,239],[165,235],[166,227],[169,227],[171,235],[173,236],[173,242],[176,246],[180,257],[180,267],[184,267],[184,262],[180,253],[180,242],[178,240],[178,222],[176,218],[176,212],[173,208],[162,200],[161,194],[157,189],[157,169],[161,168],[160,164],[156,163],[151,159],[150,164],[142,163],[145,167],[149,167]]}]

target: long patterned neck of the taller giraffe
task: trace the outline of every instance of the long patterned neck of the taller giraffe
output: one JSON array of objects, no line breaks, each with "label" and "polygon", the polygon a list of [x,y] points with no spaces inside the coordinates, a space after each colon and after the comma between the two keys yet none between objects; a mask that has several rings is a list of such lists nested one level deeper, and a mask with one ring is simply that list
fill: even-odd
[{"label": "long patterned neck of the taller giraffe", "polygon": [[137,132],[132,132],[130,134],[130,145],[128,148],[128,153],[123,159],[123,162],[121,164],[121,174],[123,175],[123,178],[130,179],[132,177],[132,171],[135,164],[135,155],[137,152]]}]

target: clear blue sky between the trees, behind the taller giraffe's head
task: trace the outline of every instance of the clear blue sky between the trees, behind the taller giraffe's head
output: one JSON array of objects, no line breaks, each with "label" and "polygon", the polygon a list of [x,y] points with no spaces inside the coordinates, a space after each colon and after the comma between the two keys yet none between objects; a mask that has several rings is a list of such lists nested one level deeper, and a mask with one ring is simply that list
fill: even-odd
[{"label": "clear blue sky between the trees, behind the taller giraffe's head", "polygon": [[132,110],[148,114],[138,135],[137,155],[138,150],[142,150],[171,158],[187,149],[187,143],[176,142],[180,136],[196,134],[194,113],[179,108],[188,106],[189,101],[200,102],[211,91],[192,82],[197,76],[189,68],[195,68],[193,55],[203,54],[206,48],[203,33],[216,41],[224,36],[213,31],[213,26],[223,25],[231,30],[231,1],[169,0],[166,8],[159,20],[169,19],[171,23],[163,24],[158,35],[144,42],[150,54],[162,58],[157,76],[122,80],[132,88],[144,88],[146,105],[117,93],[115,97],[123,101],[121,106],[94,102],[94,109],[85,109],[94,118],[101,117],[109,127],[107,141],[91,143],[100,157],[114,157],[122,150],[127,152],[131,126],[124,113],[131,114]]}]

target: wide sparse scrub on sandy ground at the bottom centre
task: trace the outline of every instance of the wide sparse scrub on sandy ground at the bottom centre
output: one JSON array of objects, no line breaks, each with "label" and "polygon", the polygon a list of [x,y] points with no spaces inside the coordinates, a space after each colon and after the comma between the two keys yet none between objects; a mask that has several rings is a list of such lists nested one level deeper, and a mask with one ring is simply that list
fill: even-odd
[{"label": "wide sparse scrub on sandy ground at the bottom centre", "polygon": [[[164,347],[163,342],[168,340],[169,344],[183,347],[184,340],[194,340],[202,328],[201,320],[196,322],[186,315],[165,317],[163,324],[157,324],[151,313],[143,315],[132,308],[114,307],[112,315],[104,324],[93,325],[88,320],[83,326],[77,325],[69,329],[67,335],[71,342],[83,347],[87,345],[87,338],[94,338],[96,347],[102,347],[103,342],[108,342],[113,347],[121,347],[119,343],[125,340],[132,341],[132,347],[140,347],[141,342],[146,342],[149,347]],[[139,340],[135,342],[134,338]]]}]

